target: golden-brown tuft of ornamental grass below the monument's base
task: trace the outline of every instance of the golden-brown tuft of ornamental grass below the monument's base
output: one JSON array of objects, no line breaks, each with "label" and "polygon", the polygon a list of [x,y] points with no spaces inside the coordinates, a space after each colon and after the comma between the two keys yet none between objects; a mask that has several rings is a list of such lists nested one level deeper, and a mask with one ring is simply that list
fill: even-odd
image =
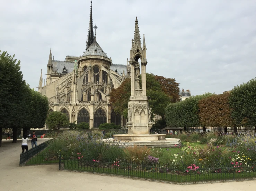
[{"label": "golden-brown tuft of ornamental grass below the monument's base", "polygon": [[133,147],[127,147],[124,149],[125,158],[128,162],[133,162],[140,164],[148,155],[151,154],[151,148],[138,147],[134,145]]}]

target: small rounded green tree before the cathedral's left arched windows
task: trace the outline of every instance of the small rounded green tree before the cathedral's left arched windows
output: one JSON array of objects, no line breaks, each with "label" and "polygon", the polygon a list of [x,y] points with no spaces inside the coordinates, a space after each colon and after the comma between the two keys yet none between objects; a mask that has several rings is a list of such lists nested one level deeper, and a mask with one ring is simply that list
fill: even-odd
[{"label": "small rounded green tree before the cathedral's left arched windows", "polygon": [[59,130],[69,126],[68,117],[60,111],[54,111],[46,119],[49,129]]}]

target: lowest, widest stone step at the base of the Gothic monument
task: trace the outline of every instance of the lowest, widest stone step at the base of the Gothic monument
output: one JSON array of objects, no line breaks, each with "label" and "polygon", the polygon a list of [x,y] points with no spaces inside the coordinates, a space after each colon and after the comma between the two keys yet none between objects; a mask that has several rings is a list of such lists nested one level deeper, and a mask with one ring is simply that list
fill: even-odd
[{"label": "lowest, widest stone step at the base of the Gothic monument", "polygon": [[180,139],[155,140],[155,141],[115,141],[114,139],[103,139],[102,141],[119,147],[146,146],[148,148],[176,148],[181,146]]}]

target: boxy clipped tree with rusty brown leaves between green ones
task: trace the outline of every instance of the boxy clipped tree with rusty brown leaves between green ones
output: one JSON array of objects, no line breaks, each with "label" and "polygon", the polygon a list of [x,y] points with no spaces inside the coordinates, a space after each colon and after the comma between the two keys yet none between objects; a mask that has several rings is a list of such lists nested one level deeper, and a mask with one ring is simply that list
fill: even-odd
[{"label": "boxy clipped tree with rusty brown leaves between green ones", "polygon": [[203,126],[224,127],[225,133],[227,133],[227,127],[235,126],[231,118],[229,96],[229,93],[213,94],[199,100],[199,117]]}]

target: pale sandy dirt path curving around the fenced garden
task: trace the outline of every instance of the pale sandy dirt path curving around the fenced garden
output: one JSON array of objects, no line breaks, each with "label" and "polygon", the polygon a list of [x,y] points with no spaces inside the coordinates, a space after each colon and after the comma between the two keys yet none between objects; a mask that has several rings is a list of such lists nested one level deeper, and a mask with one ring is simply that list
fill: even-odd
[{"label": "pale sandy dirt path curving around the fenced garden", "polygon": [[[47,139],[38,139],[38,144]],[[29,147],[31,148],[31,144]],[[36,191],[81,191],[81,190],[111,190],[111,191],[250,191],[255,190],[256,180],[224,183],[208,183],[195,185],[175,185],[167,183],[149,182],[120,177],[110,177],[89,173],[59,171],[57,164],[34,165],[19,167],[21,141],[11,143],[3,140],[0,147],[0,190]]]}]

